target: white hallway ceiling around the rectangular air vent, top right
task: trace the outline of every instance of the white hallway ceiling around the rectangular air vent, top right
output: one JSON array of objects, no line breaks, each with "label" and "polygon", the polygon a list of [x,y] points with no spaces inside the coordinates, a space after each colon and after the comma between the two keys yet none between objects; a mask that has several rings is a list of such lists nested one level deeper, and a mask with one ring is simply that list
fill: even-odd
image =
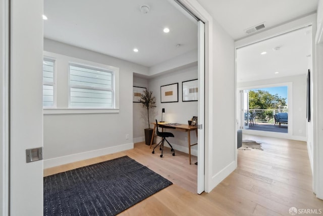
[{"label": "white hallway ceiling around the rectangular air vent, top right", "polygon": [[[264,23],[266,30],[316,12],[318,0],[197,0],[234,40]],[[260,31],[258,31],[260,32]]]}]

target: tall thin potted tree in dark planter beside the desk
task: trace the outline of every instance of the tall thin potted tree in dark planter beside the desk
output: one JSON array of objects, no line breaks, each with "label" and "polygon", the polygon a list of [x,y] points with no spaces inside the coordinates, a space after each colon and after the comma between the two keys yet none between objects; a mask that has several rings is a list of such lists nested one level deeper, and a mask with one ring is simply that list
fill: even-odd
[{"label": "tall thin potted tree in dark planter beside the desk", "polygon": [[139,101],[142,103],[144,109],[147,110],[147,120],[148,120],[148,128],[145,129],[145,142],[146,145],[150,145],[151,137],[153,136],[152,131],[153,129],[150,128],[150,121],[149,121],[149,109],[152,107],[156,107],[156,98],[152,95],[152,91],[143,91],[141,93]]}]

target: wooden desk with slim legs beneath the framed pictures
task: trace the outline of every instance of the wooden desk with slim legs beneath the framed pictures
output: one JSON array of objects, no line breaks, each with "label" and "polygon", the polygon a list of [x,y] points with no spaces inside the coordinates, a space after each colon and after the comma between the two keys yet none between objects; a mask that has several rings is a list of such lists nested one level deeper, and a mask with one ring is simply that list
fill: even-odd
[{"label": "wooden desk with slim legs beneath the framed pictures", "polygon": [[[155,129],[156,129],[156,123],[150,123],[150,124],[153,124],[153,131],[152,131],[152,137],[151,137],[151,140],[150,140],[150,147],[151,148],[151,145],[152,145],[152,142],[153,142],[153,138],[154,138],[154,135],[155,135]],[[160,128],[168,128],[168,129],[174,129],[174,130],[177,130],[177,131],[183,131],[183,132],[187,132],[187,142],[188,142],[188,154],[189,154],[189,158],[190,158],[190,164],[191,164],[191,147],[194,146],[194,145],[197,145],[197,143],[194,143],[194,144],[191,144],[191,134],[190,132],[191,131],[196,131],[196,137],[197,137],[197,126],[190,126],[190,125],[167,125],[169,124],[169,122],[158,122],[158,127]]]}]

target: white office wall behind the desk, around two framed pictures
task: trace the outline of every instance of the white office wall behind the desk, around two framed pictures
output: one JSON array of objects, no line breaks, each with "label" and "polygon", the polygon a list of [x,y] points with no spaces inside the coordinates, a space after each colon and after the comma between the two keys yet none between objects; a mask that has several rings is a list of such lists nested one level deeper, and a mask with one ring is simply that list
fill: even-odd
[{"label": "white office wall behind the desk, around two framed pictures", "polygon": [[[197,66],[190,67],[184,70],[179,70],[149,80],[149,90],[156,97],[156,107],[154,114],[151,115],[150,122],[161,121],[161,109],[165,108],[163,121],[171,123],[188,124],[193,116],[197,116],[197,101],[182,101],[182,82],[197,79]],[[160,86],[178,83],[178,102],[161,103],[160,102]],[[169,130],[174,134],[174,138],[167,140],[173,145],[174,149],[188,153],[188,144],[185,141],[187,133]],[[196,133],[191,131],[191,143],[196,143]],[[192,154],[197,155],[197,146],[193,146]]]}]

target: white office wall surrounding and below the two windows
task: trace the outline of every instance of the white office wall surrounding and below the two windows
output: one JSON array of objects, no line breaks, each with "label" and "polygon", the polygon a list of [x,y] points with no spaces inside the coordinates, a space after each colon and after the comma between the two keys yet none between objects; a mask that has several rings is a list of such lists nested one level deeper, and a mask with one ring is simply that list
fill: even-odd
[{"label": "white office wall surrounding and below the two windows", "polygon": [[[120,79],[119,113],[44,115],[44,167],[133,148],[133,72],[148,68],[49,39],[44,40],[44,50],[117,67]],[[57,71],[58,85],[65,82],[64,73],[67,69]]]}]

